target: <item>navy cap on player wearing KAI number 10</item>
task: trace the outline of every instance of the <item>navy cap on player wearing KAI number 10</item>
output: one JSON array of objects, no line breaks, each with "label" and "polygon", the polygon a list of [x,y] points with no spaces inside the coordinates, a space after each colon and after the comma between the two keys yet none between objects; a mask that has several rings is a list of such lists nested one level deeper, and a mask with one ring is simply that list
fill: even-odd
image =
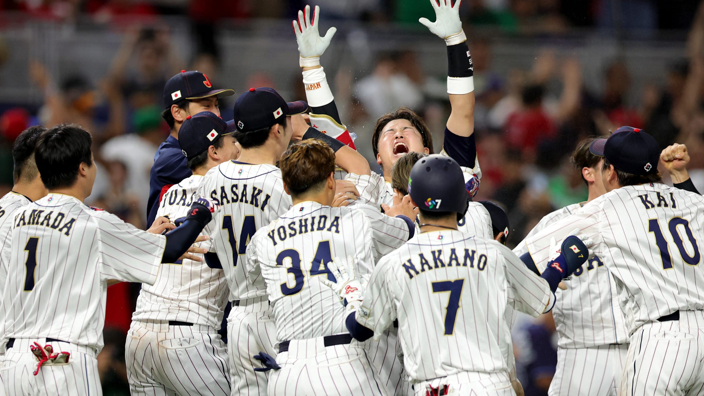
[{"label": "navy cap on player wearing KAI number 10", "polygon": [[650,175],[658,172],[660,145],[644,130],[623,126],[615,130],[608,139],[594,140],[589,152],[603,156],[614,168],[634,175]]}]

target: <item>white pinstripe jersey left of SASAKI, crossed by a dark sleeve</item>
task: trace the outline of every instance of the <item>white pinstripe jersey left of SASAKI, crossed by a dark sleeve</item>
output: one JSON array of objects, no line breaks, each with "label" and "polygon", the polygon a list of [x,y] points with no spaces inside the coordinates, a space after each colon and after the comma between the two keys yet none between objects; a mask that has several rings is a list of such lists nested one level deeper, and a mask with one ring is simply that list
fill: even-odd
[{"label": "white pinstripe jersey left of SASAKI, crossed by a dark sleeve", "polygon": [[[156,216],[167,216],[176,225],[183,223],[202,180],[203,176],[192,175],[172,185]],[[189,259],[164,264],[156,283],[144,285],[139,292],[132,320],[182,321],[220,328],[230,291],[222,266],[210,265],[206,260]]]}]

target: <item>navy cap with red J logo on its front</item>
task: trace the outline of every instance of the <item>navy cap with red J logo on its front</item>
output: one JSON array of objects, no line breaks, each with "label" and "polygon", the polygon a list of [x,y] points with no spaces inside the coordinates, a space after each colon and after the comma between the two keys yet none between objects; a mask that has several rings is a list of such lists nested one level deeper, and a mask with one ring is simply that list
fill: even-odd
[{"label": "navy cap with red J logo on its front", "polygon": [[217,96],[231,97],[234,89],[215,89],[208,76],[198,70],[181,70],[181,73],[170,78],[164,86],[164,108],[170,109],[173,104],[184,99],[203,99]]}]

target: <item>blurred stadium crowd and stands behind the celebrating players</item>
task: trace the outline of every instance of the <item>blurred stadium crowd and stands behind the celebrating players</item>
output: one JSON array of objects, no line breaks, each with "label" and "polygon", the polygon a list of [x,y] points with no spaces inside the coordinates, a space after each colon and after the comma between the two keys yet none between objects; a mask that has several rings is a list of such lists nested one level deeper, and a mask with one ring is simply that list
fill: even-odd
[{"label": "blurred stadium crowd and stands behind the celebrating players", "polygon": [[[436,134],[449,113],[444,45],[417,23],[427,0],[319,0],[322,58],[342,119],[378,170],[377,117],[406,105]],[[703,3],[704,4],[704,3]],[[168,135],[165,81],[181,69],[238,94],[275,87],[305,99],[291,20],[299,0],[0,0],[0,195],[12,186],[11,144],[23,129],[78,123],[94,137],[99,176],[87,202],[144,228],[149,168]],[[550,211],[586,199],[568,154],[583,137],[644,128],[662,147],[685,143],[704,190],[704,6],[696,0],[464,0],[474,61],[477,199],[505,206],[513,247]],[[225,120],[234,98],[220,101]],[[124,364],[139,285],[108,289],[105,395],[129,395]],[[514,331],[526,395],[555,370],[551,315]]]}]

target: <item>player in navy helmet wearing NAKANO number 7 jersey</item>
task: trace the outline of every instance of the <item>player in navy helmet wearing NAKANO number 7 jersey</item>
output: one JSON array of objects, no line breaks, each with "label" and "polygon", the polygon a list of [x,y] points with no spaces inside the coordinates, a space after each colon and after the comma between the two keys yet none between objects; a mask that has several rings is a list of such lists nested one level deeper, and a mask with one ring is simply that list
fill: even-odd
[{"label": "player in navy helmet wearing NAKANO number 7 jersey", "polygon": [[435,203],[419,206],[420,235],[379,261],[363,296],[348,292],[353,280],[344,273],[331,285],[347,302],[346,325],[357,340],[398,320],[415,395],[514,395],[501,347],[506,304],[532,316],[549,311],[558,283],[588,252],[577,237],[565,238],[539,278],[498,242],[460,233],[457,218],[469,200],[463,180],[451,158],[420,159],[410,197]]}]

